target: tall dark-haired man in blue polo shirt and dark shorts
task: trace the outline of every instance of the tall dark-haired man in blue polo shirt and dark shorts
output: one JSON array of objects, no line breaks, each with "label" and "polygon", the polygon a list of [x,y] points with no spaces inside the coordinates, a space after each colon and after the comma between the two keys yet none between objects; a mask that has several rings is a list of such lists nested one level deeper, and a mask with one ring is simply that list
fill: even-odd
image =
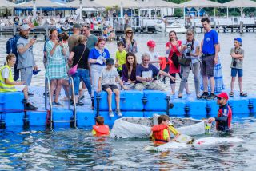
[{"label": "tall dark-haired man in blue polo shirt and dark shorts", "polygon": [[[206,33],[202,42],[202,82],[204,92],[201,98],[206,98],[207,100],[214,99],[214,66],[218,63],[218,33],[211,29],[209,18],[201,19],[202,26],[206,30]],[[208,77],[210,78],[210,94],[208,93]]]}]

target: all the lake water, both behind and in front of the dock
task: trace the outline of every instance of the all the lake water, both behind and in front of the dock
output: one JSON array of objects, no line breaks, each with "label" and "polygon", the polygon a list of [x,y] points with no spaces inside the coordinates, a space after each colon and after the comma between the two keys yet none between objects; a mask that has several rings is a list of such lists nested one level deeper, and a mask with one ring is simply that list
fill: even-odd
[{"label": "all the lake water, both behind and in front of the dock", "polygon": [[[197,34],[201,41],[203,34]],[[233,39],[241,37],[245,50],[244,89],[255,91],[255,42],[256,34],[219,34],[222,73],[227,88],[230,86],[230,48]],[[178,35],[179,39],[185,34]],[[39,38],[40,39],[40,38]],[[167,35],[139,34],[138,59],[146,51],[146,42],[153,39],[156,50],[165,55]],[[0,63],[6,58],[6,37],[0,37]],[[110,54],[114,57],[116,42],[107,43]],[[42,64],[43,42],[34,46],[34,54],[39,68]],[[190,75],[190,89],[194,89]],[[238,82],[237,82],[238,84]],[[238,86],[236,84],[236,89]],[[44,70],[34,76],[32,85],[44,85]],[[169,86],[168,84],[166,86]],[[0,129],[0,170],[255,170],[256,163],[256,118],[234,118],[234,132],[226,137],[242,138],[246,142],[218,145],[190,146],[186,149],[171,149],[167,153],[144,151],[148,140],[113,140],[90,136],[86,129],[30,128],[37,133],[20,134],[22,128]],[[213,133],[200,137],[223,137]]]}]

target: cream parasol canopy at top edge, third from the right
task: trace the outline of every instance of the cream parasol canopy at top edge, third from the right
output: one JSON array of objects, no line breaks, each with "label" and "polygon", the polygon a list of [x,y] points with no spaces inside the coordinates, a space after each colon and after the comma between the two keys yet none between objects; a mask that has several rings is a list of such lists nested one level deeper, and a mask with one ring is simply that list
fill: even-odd
[{"label": "cream parasol canopy at top edge, third from the right", "polygon": [[140,8],[178,8],[178,4],[163,0],[149,0],[139,3]]}]

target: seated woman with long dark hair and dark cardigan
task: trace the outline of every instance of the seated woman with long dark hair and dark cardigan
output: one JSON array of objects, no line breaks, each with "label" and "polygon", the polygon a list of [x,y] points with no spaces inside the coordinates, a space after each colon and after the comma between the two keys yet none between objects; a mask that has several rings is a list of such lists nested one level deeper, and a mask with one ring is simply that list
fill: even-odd
[{"label": "seated woman with long dark hair and dark cardigan", "polygon": [[122,82],[129,89],[134,89],[136,82],[136,56],[133,53],[126,54],[126,63],[122,65]]}]

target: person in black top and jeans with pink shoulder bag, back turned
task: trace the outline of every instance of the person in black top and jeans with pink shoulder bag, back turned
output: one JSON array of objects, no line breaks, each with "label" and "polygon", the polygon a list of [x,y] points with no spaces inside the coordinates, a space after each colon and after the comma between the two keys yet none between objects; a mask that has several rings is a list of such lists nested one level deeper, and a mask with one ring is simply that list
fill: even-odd
[{"label": "person in black top and jeans with pink shoulder bag, back turned", "polygon": [[78,69],[72,76],[74,79],[75,103],[77,105],[84,105],[82,102],[78,101],[80,80],[85,83],[88,93],[91,95],[90,64],[88,62],[90,50],[86,47],[86,41],[85,36],[78,36],[78,45],[74,46],[69,57],[69,62],[73,63],[72,67],[78,64]]}]

